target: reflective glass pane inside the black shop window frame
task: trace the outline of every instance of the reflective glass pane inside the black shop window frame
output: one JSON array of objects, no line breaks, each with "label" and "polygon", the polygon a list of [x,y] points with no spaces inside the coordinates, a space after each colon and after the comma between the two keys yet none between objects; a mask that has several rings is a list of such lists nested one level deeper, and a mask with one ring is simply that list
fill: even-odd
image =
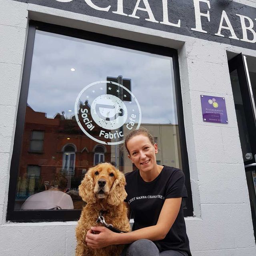
[{"label": "reflective glass pane inside the black shop window frame", "polygon": [[[98,91],[92,88],[78,104],[88,120],[77,120],[76,98],[96,81],[117,82],[131,94],[125,89],[118,91],[119,87],[113,84],[98,84]],[[94,106],[92,97],[101,92],[117,98],[122,111],[136,112],[137,101],[141,108],[140,126],[147,128],[158,143],[157,162],[181,167],[172,58],[36,30],[15,210],[39,209],[41,195],[47,194],[44,198],[51,202],[60,194],[58,191],[68,195],[67,201],[71,198],[74,209],[82,209],[85,202],[78,194],[78,186],[90,167],[110,162],[124,172],[134,169],[123,145],[111,142],[116,141],[114,136],[125,136],[138,121],[132,115],[125,120],[124,112],[114,112],[111,104],[108,109],[100,104]],[[116,118],[124,125],[109,130],[113,136],[99,136],[102,129],[94,125],[93,115],[106,117],[105,121]],[[91,129],[91,137],[78,122]],[[104,134],[110,133],[107,130]],[[52,185],[55,176],[66,179],[65,189]],[[47,205],[42,209],[71,209],[70,205]]]}]

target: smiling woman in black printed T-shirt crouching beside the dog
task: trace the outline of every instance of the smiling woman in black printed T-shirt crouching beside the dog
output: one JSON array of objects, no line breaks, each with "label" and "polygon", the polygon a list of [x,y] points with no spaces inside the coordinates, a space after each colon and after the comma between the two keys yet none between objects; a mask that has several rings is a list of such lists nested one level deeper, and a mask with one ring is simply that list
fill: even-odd
[{"label": "smiling woman in black printed T-shirt crouching beside the dog", "polygon": [[132,131],[125,146],[128,158],[138,168],[126,174],[124,204],[128,216],[131,210],[134,213],[133,231],[118,234],[92,227],[86,236],[88,246],[128,244],[122,256],[191,256],[181,204],[182,197],[187,197],[183,172],[156,164],[158,146],[147,130]]}]

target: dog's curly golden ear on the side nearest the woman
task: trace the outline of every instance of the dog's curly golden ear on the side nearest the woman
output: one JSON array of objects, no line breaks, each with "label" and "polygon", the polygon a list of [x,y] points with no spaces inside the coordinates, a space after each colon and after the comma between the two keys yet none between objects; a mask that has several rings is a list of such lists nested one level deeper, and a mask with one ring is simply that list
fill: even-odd
[{"label": "dog's curly golden ear on the side nearest the woman", "polygon": [[117,178],[114,181],[114,184],[108,195],[108,204],[110,205],[119,205],[124,202],[124,199],[127,196],[127,193],[124,189],[126,185],[124,174],[120,171],[117,171]]}]

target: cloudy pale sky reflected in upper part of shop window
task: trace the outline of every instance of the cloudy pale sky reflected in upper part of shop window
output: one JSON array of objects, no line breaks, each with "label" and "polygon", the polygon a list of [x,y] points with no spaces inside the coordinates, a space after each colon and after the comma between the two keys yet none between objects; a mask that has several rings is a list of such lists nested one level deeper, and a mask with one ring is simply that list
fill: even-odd
[{"label": "cloudy pale sky reflected in upper part of shop window", "polygon": [[142,124],[178,124],[172,58],[38,30],[28,104],[48,118],[72,116],[84,87],[119,75],[132,81]]}]

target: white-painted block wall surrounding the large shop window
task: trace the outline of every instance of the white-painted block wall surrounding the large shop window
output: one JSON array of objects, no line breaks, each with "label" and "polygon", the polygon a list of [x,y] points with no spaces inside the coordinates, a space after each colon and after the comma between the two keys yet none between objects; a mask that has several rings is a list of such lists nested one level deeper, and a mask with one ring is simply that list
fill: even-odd
[{"label": "white-painted block wall surrounding the large shop window", "polygon": [[[254,1],[243,2],[254,5]],[[255,255],[250,203],[226,51],[243,52],[255,57],[256,51],[11,0],[0,0],[0,6],[2,256],[72,256],[76,244],[76,222],[6,222],[10,160],[28,17],[178,49],[194,204],[194,217],[186,218],[192,255]],[[200,94],[225,96],[228,124],[202,122]]]}]

